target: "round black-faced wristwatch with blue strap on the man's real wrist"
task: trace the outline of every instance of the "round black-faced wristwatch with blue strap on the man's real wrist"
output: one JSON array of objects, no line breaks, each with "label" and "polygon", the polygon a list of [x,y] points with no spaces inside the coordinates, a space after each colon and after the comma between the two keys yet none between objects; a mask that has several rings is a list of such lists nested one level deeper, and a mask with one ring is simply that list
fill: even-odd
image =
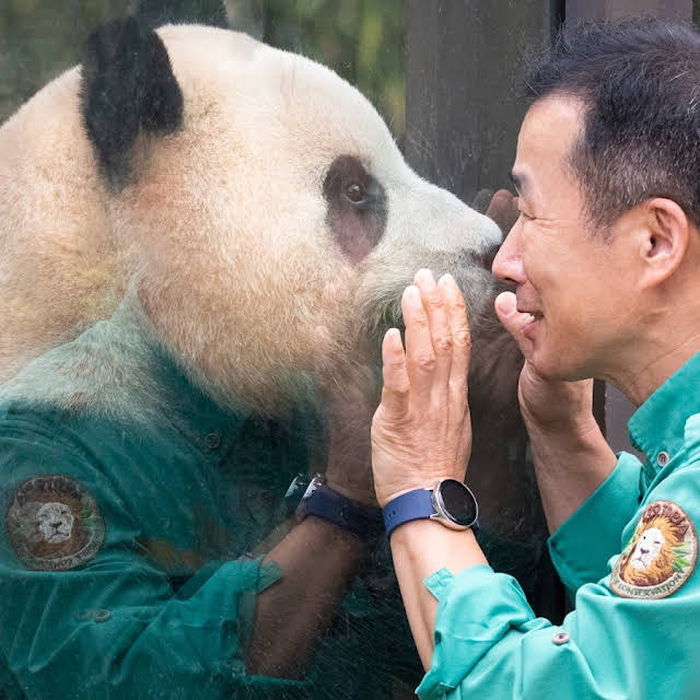
[{"label": "round black-faced wristwatch with blue strap on the man's real wrist", "polygon": [[433,488],[414,489],[392,499],[382,509],[386,536],[411,520],[437,520],[452,530],[479,529],[479,505],[466,484],[441,479]]}]

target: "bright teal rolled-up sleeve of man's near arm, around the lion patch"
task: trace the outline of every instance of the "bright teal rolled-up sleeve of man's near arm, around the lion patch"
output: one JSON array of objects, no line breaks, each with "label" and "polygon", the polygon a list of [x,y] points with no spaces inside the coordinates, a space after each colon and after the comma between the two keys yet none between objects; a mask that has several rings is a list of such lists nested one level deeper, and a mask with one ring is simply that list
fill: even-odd
[{"label": "bright teal rolled-up sleeve of man's near arm, around the lion patch", "polygon": [[[697,525],[700,467],[667,477],[645,504],[659,500],[673,502]],[[642,512],[637,510],[624,536],[631,536]],[[617,517],[601,512],[600,518],[608,515]],[[599,525],[589,522],[591,542]],[[605,527],[602,532],[607,536]],[[690,550],[697,551],[696,542]],[[585,551],[571,558],[577,554]],[[700,676],[691,671],[700,665],[695,564],[694,556],[683,560],[688,578],[670,594],[660,590],[665,597],[621,597],[609,573],[586,583],[561,626],[535,618],[518,583],[488,566],[456,576],[438,571],[425,582],[438,599],[438,613],[432,666],[417,693],[422,700],[700,697]]]}]

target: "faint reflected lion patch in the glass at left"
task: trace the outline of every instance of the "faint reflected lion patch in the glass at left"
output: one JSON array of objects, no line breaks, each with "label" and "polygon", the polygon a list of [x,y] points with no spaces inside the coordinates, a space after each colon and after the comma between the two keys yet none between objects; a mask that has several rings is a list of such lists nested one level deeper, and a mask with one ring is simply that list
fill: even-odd
[{"label": "faint reflected lion patch in the glass at left", "polygon": [[61,474],[23,482],[7,511],[7,533],[22,563],[35,571],[65,571],[92,559],[105,525],[92,495]]}]

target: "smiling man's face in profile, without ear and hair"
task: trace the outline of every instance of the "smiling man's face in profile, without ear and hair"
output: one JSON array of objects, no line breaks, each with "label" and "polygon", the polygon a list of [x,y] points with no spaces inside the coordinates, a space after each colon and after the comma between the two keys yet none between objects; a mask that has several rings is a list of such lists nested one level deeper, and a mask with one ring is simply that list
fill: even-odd
[{"label": "smiling man's face in profile, without ear and hair", "polygon": [[493,263],[497,277],[516,283],[518,311],[533,314],[530,360],[552,379],[604,376],[634,306],[626,237],[591,229],[568,164],[582,116],[567,97],[528,111],[513,166],[520,217]]}]

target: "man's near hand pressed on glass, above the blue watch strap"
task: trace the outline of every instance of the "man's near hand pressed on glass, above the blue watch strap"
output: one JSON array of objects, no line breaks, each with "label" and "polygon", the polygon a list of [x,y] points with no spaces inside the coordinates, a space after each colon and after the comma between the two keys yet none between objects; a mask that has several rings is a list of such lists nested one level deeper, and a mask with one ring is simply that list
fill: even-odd
[{"label": "man's near hand pressed on glass, above the blue watch strap", "polygon": [[464,299],[450,275],[435,284],[428,270],[401,301],[406,352],[399,331],[384,337],[384,388],[372,422],[377,501],[464,480],[471,452],[467,405],[469,326]]}]

